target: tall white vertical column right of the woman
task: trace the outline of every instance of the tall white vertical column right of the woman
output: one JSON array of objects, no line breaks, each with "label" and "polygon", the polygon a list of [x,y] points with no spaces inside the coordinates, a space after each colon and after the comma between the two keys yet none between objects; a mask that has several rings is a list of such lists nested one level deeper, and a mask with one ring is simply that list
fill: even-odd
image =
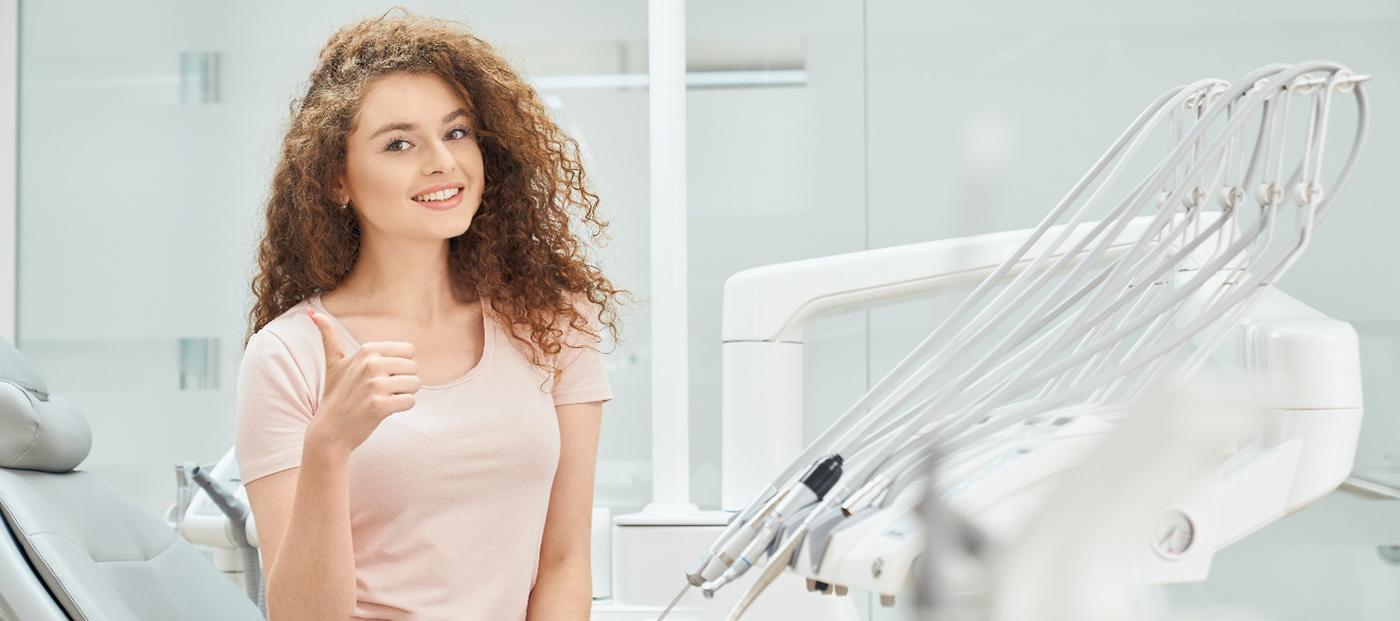
[{"label": "tall white vertical column right of the woman", "polygon": [[651,505],[693,512],[686,322],[686,3],[650,0]]}]

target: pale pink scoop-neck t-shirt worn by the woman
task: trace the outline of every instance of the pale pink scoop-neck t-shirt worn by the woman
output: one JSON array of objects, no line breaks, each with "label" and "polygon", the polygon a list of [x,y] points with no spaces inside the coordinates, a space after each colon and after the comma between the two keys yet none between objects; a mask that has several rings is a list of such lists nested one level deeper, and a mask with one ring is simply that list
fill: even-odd
[{"label": "pale pink scoop-neck t-shirt worn by the woman", "polygon": [[[244,483],[301,466],[326,368],[308,304],[330,317],[347,354],[360,347],[319,295],[252,336],[237,387]],[[385,418],[350,453],[354,618],[525,618],[559,464],[554,406],[606,401],[612,389],[587,333],[566,329],[566,343],[594,347],[564,347],[554,383],[483,308],[480,362],[423,386],[413,408]]]}]

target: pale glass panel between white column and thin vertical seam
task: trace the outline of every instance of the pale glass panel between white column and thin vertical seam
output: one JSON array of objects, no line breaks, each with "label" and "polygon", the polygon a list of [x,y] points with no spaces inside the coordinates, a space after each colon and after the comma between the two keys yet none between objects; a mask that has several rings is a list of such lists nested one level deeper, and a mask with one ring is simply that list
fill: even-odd
[{"label": "pale glass panel between white column and thin vertical seam", "polygon": [[[701,506],[720,505],[724,281],[865,248],[860,18],[858,1],[686,7],[692,495]],[[864,315],[815,322],[805,350],[811,441],[865,392]]]}]

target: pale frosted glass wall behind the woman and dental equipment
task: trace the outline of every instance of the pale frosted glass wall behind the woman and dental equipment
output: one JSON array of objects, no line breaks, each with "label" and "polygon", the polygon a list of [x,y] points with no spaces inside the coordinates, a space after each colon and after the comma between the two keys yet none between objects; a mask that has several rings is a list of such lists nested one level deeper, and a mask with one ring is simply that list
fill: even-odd
[{"label": "pale frosted glass wall behind the woman and dental equipment", "polygon": [[[598,504],[650,495],[643,0],[407,1],[505,52],[582,143],[637,294],[609,357]],[[692,491],[720,498],[720,304],[748,267],[1026,228],[1170,85],[1330,59],[1376,78],[1368,150],[1282,287],[1361,334],[1358,473],[1400,485],[1400,3],[692,1]],[[20,1],[17,343],[84,407],[99,473],[155,515],[232,442],[232,383],[279,138],[326,36],[384,1]],[[620,77],[619,77],[620,76]],[[631,85],[629,85],[631,84]],[[935,302],[809,330],[806,436],[931,330]],[[1284,520],[1288,522],[1288,520]],[[1341,523],[1345,523],[1344,520]],[[1400,566],[1322,529],[1222,552],[1183,611],[1396,618]],[[683,559],[689,562],[690,559]],[[679,562],[679,561],[678,561]],[[679,565],[678,565],[679,566]],[[679,579],[679,573],[678,573]],[[900,618],[875,607],[872,618]]]}]

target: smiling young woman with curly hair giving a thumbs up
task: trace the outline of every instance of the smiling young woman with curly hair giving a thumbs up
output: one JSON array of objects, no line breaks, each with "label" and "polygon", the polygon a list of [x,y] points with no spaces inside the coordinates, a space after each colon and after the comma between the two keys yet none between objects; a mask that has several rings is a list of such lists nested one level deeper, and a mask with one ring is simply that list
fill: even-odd
[{"label": "smiling young woman with curly hair giving a thumbs up", "polygon": [[577,143],[449,21],[349,25],[266,207],[235,450],[273,621],[587,620],[601,330]]}]

